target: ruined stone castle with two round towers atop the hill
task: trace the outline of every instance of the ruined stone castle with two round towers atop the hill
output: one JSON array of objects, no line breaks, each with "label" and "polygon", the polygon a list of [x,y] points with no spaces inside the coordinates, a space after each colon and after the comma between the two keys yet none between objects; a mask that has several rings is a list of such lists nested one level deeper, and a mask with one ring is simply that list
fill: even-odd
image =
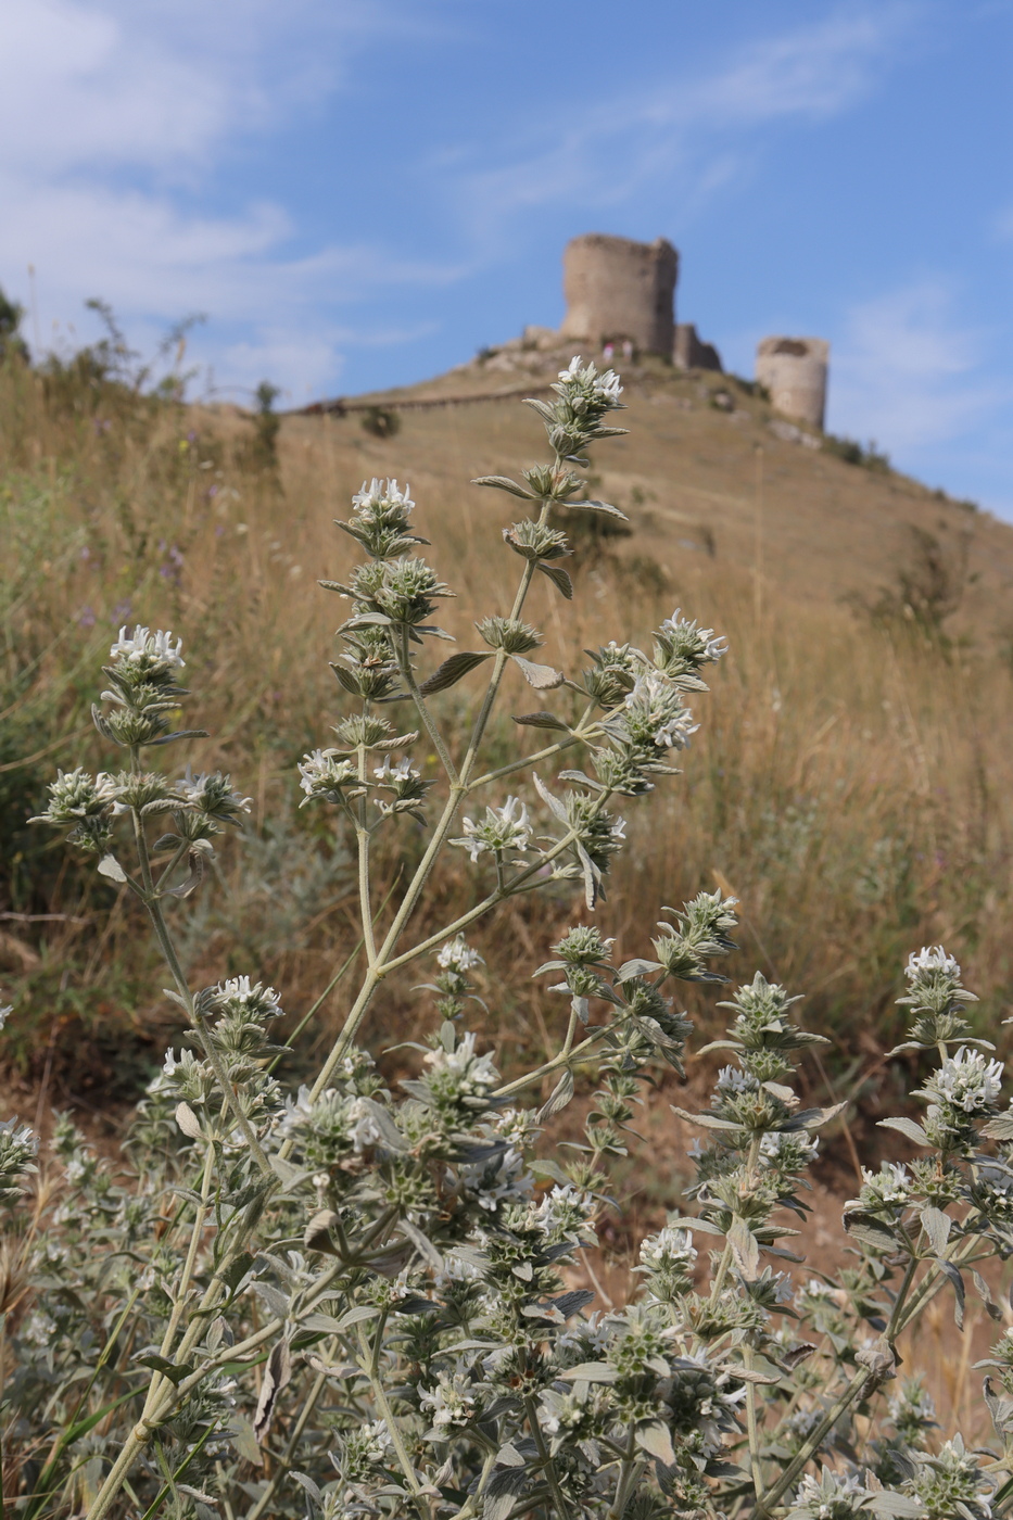
[{"label": "ruined stone castle with two round towers atop the hill", "polygon": [[[680,369],[721,369],[712,344],[692,322],[675,322],[678,252],[665,237],[636,243],[628,237],[584,233],[563,254],[566,316],[561,333],[601,347],[663,354]],[[779,412],[823,427],[830,345],[821,337],[764,337],[756,350],[756,378]]]}]

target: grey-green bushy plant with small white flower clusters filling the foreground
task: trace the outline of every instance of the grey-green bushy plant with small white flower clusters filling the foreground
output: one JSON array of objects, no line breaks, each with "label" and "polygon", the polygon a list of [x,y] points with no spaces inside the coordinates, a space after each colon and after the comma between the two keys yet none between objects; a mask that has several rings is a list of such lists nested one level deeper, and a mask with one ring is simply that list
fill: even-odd
[{"label": "grey-green bushy plant with small white flower clusters filling the foreground", "polygon": [[[364,555],[324,582],[350,603],[341,713],[300,783],[303,806],[332,810],[356,841],[365,973],[298,1091],[274,1032],[281,1002],[257,968],[193,988],[176,950],[176,900],[202,886],[216,836],[246,809],[228,777],[158,765],[199,737],[172,727],[187,696],[179,640],[135,628],[113,646],[96,725],[119,758],[97,777],[61,774],[40,822],[67,828],[143,904],[189,1043],[138,1105],[128,1170],[65,1120],[43,1157],[29,1131],[0,1126],[11,1514],[986,1520],[1011,1502],[1013,1339],[986,1363],[984,1418],[951,1438],[910,1338],[900,1376],[897,1339],[938,1294],[958,1321],[966,1290],[1002,1319],[983,1263],[1013,1251],[1013,1113],[942,948],[907,968],[922,1117],[887,1125],[911,1160],[864,1175],[843,1271],[802,1266],[806,1172],[837,1114],[797,1093],[820,1037],[757,974],[722,1005],[727,1038],[709,1049],[727,1064],[709,1105],[678,1110],[701,1137],[681,1211],[643,1240],[625,1303],[583,1286],[645,1084],[663,1064],[683,1072],[691,1023],[674,983],[721,982],[735,930],[735,901],[701,892],[616,964],[592,917],[624,810],[649,807],[675,774],[695,728],[688,699],[724,641],[674,614],[648,651],[610,641],[567,673],[534,658],[541,635],[525,622],[537,575],[572,596],[549,515],[614,511],[581,500],[576,471],[618,432],[619,394],[611,372],[575,360],[552,404],[531,403],[551,461],[478,482],[520,515],[503,535],[514,602],[476,622],[475,649],[430,654],[452,593],[415,552],[426,540],[408,489],[364,485],[339,524]],[[545,743],[487,769],[510,663],[538,693],[514,717]],[[484,682],[472,730],[447,734],[430,699],[468,676]],[[405,828],[426,844],[391,886],[374,879],[374,841]],[[417,909],[444,850],[475,872],[475,906],[423,936]],[[566,883],[576,921],[532,968],[560,1009],[558,1049],[503,1081],[488,1037],[465,1028],[484,1006],[468,930]],[[433,1032],[391,1090],[364,1024],[405,965],[427,979]],[[598,1088],[581,1142],[554,1149],[578,1066]]]}]

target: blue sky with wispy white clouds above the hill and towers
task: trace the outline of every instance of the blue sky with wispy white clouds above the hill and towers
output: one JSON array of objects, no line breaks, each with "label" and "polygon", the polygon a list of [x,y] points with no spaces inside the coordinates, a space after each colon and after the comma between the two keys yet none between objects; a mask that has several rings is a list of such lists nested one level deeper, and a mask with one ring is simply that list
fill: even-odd
[{"label": "blue sky with wispy white clouds above the hill and towers", "polygon": [[198,389],[298,404],[662,234],[729,368],[829,337],[832,430],[1013,518],[1011,67],[1013,0],[0,0],[0,284],[43,348],[205,312]]}]

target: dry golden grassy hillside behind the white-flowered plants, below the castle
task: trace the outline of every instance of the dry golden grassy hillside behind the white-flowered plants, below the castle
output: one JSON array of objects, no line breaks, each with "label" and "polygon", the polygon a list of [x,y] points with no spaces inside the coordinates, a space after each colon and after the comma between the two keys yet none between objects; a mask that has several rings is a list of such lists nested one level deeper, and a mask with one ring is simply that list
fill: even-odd
[{"label": "dry golden grassy hillside behind the white-flowered plants, below the castle", "polygon": [[[508,385],[476,365],[421,391]],[[712,404],[718,385],[732,412]],[[630,804],[637,848],[602,927],[642,953],[660,903],[727,885],[745,918],[732,974],[759,965],[806,994],[806,1020],[837,1035],[838,1082],[858,1082],[893,1043],[916,945],[943,939],[958,955],[993,1031],[1013,1000],[1013,532],[916,482],[776,438],[765,404],[733,382],[645,366],[628,400],[630,438],[595,465],[634,532],[581,549],[573,605],[548,582],[538,590],[545,657],[575,669],[583,648],[642,640],[675,605],[726,632],[732,652],[700,701],[684,775],[649,812]],[[35,1081],[49,1070],[55,1096],[99,1107],[131,1090],[176,1028],[140,915],[24,824],[58,765],[113,758],[88,704],[120,623],[183,634],[192,717],[213,734],[193,746],[195,766],[228,769],[254,800],[245,841],[179,907],[192,974],[256,971],[298,1014],[357,938],[345,842],[322,813],[297,812],[295,763],[327,742],[341,705],[327,660],[344,603],[316,587],[350,564],[332,520],[364,477],[408,477],[430,558],[459,593],[443,620],[467,648],[472,620],[505,611],[516,576],[500,541],[508,499],[468,480],[531,462],[538,435],[516,400],[406,412],[389,439],[356,415],[292,416],[275,470],[233,410],[6,368],[0,1000],[18,1008],[5,1037],[14,1067]],[[853,605],[900,584],[913,526],[932,535],[960,597],[935,635]],[[470,690],[464,681],[444,699],[452,734]],[[511,711],[532,705],[520,684],[510,698]],[[503,716],[490,763],[516,739]],[[412,859],[409,830],[399,848],[382,860],[380,892]],[[433,917],[475,891],[458,866],[437,879]],[[572,914],[564,898],[538,898],[476,936],[508,1062],[540,1049],[558,1018],[516,967],[534,968]],[[417,979],[386,990],[371,1041],[414,1028]],[[318,1015],[321,1041],[342,999],[344,983]]]}]

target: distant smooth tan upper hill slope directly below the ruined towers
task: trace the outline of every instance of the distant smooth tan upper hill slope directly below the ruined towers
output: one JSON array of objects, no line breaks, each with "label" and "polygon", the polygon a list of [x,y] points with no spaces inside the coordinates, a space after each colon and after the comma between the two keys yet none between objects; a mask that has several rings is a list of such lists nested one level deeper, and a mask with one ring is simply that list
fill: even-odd
[{"label": "distant smooth tan upper hill slope directly below the ruined towers", "polygon": [[[548,342],[551,334],[514,339],[430,382],[356,397],[345,415],[286,416],[283,447],[327,447],[350,479],[356,468],[392,473],[408,476],[420,500],[433,488],[458,499],[468,476],[508,471],[538,448],[537,420],[517,400],[546,394],[569,360],[572,344]],[[736,576],[754,578],[759,565],[764,585],[792,600],[875,602],[917,559],[916,527],[937,540],[945,573],[973,585],[978,634],[1008,634],[1007,523],[890,470],[882,456],[861,451],[864,462],[847,462],[840,441],[780,418],[733,375],[651,357],[616,368],[630,438],[599,450],[601,473],[598,459],[593,468],[596,491],[634,527],[619,553],[668,575],[692,556]],[[364,435],[367,406],[397,409],[397,436]],[[487,505],[475,492],[467,500],[476,512]],[[964,605],[955,626],[969,625]]]}]

